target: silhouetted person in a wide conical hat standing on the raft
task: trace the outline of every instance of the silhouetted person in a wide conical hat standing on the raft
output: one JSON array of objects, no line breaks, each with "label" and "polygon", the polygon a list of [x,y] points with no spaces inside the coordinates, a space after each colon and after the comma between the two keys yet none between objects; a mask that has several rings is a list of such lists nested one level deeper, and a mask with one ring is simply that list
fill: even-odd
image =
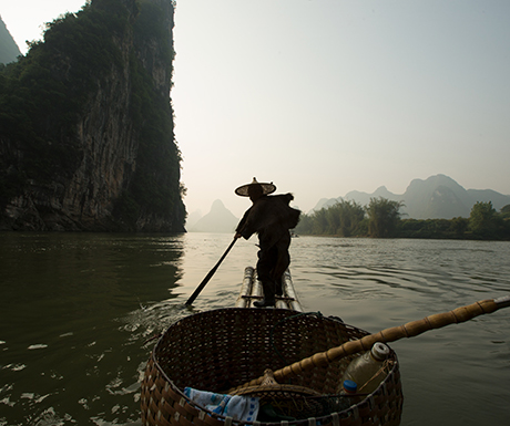
[{"label": "silhouetted person in a wide conical hat standing on the raft", "polygon": [[241,219],[235,238],[247,240],[253,233],[258,233],[257,276],[264,289],[264,300],[254,302],[257,308],[274,306],[275,294],[283,293],[282,278],[290,264],[289,229],[295,228],[299,221],[300,211],[288,205],[294,196],[269,196],[275,190],[273,183],[261,184],[256,178],[235,190],[235,194],[249,197],[253,202]]}]

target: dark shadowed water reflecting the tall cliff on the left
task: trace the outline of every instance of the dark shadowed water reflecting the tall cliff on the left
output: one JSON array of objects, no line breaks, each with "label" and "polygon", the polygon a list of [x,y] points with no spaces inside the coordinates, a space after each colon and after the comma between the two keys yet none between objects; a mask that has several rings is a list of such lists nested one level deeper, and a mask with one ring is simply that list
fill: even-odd
[{"label": "dark shadowed water reflecting the tall cliff on the left", "polygon": [[182,257],[183,236],[2,235],[0,424],[139,423]]}]

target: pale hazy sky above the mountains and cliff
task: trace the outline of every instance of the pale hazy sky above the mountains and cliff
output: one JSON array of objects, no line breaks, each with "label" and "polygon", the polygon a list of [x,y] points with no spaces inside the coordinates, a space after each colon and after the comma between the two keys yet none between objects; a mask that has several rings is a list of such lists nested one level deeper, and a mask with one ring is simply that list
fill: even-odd
[{"label": "pale hazy sky above the mountains and cliff", "polygon": [[[24,52],[83,0],[0,0]],[[252,180],[320,198],[445,174],[510,195],[510,1],[180,0],[176,139],[188,212]]]}]

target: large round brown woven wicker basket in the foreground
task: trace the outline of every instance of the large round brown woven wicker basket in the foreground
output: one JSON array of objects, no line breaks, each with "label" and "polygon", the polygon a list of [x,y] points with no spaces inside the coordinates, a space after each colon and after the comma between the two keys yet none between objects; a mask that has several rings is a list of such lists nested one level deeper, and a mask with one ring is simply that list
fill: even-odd
[{"label": "large round brown woven wicker basket in the foreground", "polygon": [[[231,308],[187,316],[166,330],[149,360],[142,382],[142,423],[238,424],[196,405],[184,395],[184,387],[225,393],[262,376],[266,368],[276,371],[366,334],[339,319],[279,309]],[[336,394],[351,359],[316,367],[282,385],[306,387],[323,395]],[[399,425],[402,393],[395,352],[391,352],[390,362],[391,368],[381,385],[357,405],[289,424]]]}]

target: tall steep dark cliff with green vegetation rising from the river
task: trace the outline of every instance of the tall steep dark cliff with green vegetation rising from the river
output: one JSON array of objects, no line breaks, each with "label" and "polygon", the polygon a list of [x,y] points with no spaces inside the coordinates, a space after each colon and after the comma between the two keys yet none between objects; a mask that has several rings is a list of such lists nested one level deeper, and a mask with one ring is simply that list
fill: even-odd
[{"label": "tall steep dark cliff with green vegetation rising from the river", "polygon": [[92,0],[0,70],[0,229],[184,230],[173,13]]}]

